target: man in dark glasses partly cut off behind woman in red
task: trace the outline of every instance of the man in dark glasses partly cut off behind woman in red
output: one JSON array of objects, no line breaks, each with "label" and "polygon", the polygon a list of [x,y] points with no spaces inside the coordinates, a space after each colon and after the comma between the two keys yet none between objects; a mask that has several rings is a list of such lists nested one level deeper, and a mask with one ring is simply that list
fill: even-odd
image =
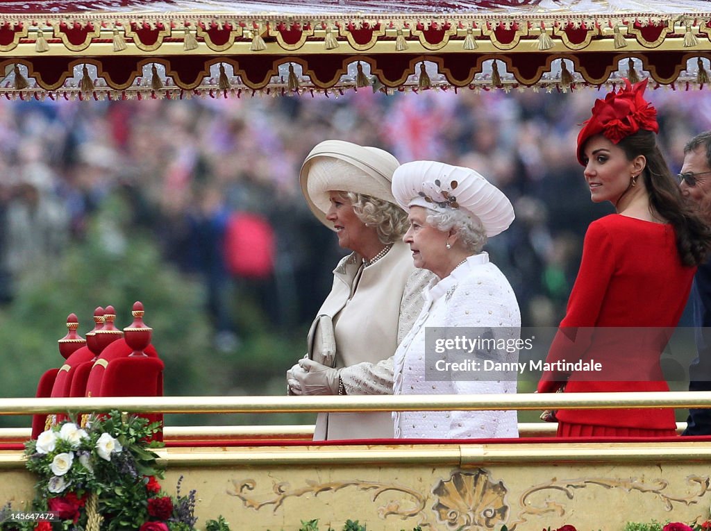
[{"label": "man in dark glasses partly cut off behind woman in red", "polygon": [[[711,131],[698,134],[684,146],[678,178],[682,193],[711,222]],[[697,350],[689,367],[689,390],[711,391],[711,259],[698,267],[689,298]],[[687,423],[684,435],[711,435],[711,409],[689,409]]]}]

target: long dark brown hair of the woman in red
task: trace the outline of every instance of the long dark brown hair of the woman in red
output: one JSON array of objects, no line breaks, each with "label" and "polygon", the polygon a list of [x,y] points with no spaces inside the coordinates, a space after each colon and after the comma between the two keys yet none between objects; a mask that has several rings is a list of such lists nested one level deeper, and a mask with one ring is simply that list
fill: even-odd
[{"label": "long dark brown hair of the woman in red", "polygon": [[656,135],[640,130],[626,136],[618,144],[629,161],[638,155],[647,159],[642,178],[649,194],[651,208],[674,227],[676,248],[681,262],[687,266],[702,263],[711,250],[711,227],[700,212],[686,201],[679,185],[671,176],[669,166],[659,151]]}]

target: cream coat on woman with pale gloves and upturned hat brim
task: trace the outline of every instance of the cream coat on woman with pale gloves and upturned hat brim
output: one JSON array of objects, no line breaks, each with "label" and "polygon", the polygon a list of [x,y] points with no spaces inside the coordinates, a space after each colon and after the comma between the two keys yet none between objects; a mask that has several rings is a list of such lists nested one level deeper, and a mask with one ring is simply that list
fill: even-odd
[{"label": "cream coat on woman with pale gloves and upturned hat brim", "polygon": [[[410,250],[402,242],[395,243],[375,264],[362,265],[362,257],[354,252],[334,269],[331,293],[309,331],[308,355],[325,365],[349,368],[341,377],[349,395],[390,394],[392,354],[419,315],[424,303],[422,289],[432,274],[415,269]],[[319,326],[328,319],[321,316],[333,320],[333,360],[322,354],[320,338],[324,333]],[[314,440],[389,439],[392,434],[392,418],[387,412],[324,413],[316,420]]]}]

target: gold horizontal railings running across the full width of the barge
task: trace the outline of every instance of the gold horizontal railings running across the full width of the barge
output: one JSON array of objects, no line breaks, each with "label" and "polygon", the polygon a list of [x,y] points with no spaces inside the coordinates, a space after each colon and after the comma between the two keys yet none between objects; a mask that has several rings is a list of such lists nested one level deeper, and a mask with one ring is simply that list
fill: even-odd
[{"label": "gold horizontal railings running across the full width of the barge", "polygon": [[[358,411],[418,411],[476,409],[609,409],[658,407],[711,407],[711,392],[557,393],[520,395],[412,395],[351,397],[111,397],[111,398],[5,398],[0,415],[50,414],[60,412],[107,412],[118,409],[133,413],[314,413]],[[522,435],[550,436],[555,424],[521,424]],[[249,440],[247,446],[225,446],[218,451],[201,448],[168,448],[159,451],[169,466],[338,466],[384,464],[389,466],[432,463],[448,466],[484,466],[493,463],[659,463],[665,461],[711,461],[711,441],[679,439],[663,443],[566,443],[527,444],[525,441],[456,444],[400,444],[368,446],[353,441],[341,446],[264,446],[258,439],[301,439],[306,444],[310,426],[292,427],[166,427],[168,440]],[[26,431],[24,432],[26,433]],[[17,431],[14,434],[18,434]],[[310,442],[310,441],[309,441]],[[21,451],[0,452],[0,470],[21,469]]]}]

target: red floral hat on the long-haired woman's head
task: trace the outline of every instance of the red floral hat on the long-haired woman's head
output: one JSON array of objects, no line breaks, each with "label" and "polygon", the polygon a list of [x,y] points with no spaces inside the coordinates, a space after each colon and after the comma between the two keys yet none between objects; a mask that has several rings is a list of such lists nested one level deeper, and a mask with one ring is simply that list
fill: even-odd
[{"label": "red floral hat on the long-haired woman's head", "polygon": [[584,127],[578,134],[577,158],[583,162],[582,149],[587,139],[602,133],[617,144],[625,136],[638,132],[640,129],[659,132],[657,109],[644,99],[647,80],[631,85],[624,80],[625,86],[619,92],[614,90],[605,96],[604,100],[595,100],[592,107],[592,117],[584,122]]}]

